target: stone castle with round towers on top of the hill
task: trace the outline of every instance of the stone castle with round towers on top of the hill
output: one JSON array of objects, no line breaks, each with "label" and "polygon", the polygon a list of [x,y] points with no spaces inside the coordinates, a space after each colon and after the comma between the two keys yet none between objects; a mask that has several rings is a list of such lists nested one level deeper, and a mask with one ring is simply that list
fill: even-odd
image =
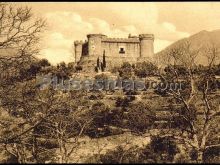
[{"label": "stone castle with round towers on top of the hill", "polygon": [[140,34],[128,38],[108,38],[103,34],[88,34],[88,40],[75,41],[75,62],[93,69],[98,58],[105,54],[107,67],[123,62],[151,61],[154,55],[154,35]]}]

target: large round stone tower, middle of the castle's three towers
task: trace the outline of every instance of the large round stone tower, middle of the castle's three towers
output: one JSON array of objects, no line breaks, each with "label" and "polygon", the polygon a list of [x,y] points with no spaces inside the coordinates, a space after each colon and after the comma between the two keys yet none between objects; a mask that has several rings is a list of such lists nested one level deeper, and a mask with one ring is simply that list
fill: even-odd
[{"label": "large round stone tower, middle of the castle's three towers", "polygon": [[99,56],[102,52],[102,38],[107,36],[103,34],[88,34],[88,54],[89,56]]}]

